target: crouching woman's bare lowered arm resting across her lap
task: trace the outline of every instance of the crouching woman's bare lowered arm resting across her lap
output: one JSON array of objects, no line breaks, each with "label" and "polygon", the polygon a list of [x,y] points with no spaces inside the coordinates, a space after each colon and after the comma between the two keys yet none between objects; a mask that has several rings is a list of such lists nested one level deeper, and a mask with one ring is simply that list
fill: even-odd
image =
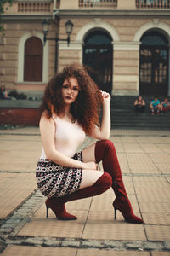
[{"label": "crouching woman's bare lowered arm resting across her lap", "polygon": [[94,162],[82,163],[81,161],[74,160],[70,157],[61,154],[55,149],[54,133],[55,124],[54,119],[47,119],[43,114],[40,120],[40,132],[42,137],[42,145],[48,160],[60,166],[82,168],[82,169],[96,169]]}]

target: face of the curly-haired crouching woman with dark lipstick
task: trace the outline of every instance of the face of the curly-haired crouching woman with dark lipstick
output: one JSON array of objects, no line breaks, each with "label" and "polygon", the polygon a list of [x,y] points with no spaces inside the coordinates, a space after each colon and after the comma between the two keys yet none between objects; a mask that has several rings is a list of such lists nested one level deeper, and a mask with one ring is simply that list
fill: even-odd
[{"label": "face of the curly-haired crouching woman with dark lipstick", "polygon": [[66,105],[70,105],[72,102],[77,100],[79,90],[80,86],[76,78],[71,77],[69,79],[65,79],[61,87],[61,93]]}]

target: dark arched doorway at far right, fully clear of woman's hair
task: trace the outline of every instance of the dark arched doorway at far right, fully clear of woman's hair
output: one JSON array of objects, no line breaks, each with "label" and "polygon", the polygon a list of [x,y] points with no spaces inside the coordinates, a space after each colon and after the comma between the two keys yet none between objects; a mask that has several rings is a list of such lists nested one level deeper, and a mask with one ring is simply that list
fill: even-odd
[{"label": "dark arched doorway at far right, fully clear of woman's hair", "polygon": [[140,46],[139,93],[167,96],[168,41],[161,32],[145,32]]}]

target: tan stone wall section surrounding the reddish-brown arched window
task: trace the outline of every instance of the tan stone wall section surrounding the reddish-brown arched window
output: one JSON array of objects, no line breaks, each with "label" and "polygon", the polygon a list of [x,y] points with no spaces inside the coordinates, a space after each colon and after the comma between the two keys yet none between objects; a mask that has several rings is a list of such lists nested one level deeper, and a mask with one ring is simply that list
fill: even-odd
[{"label": "tan stone wall section surrounding the reddish-brown arched window", "polygon": [[[1,39],[0,44],[0,83],[5,84],[7,90],[20,90],[27,94],[32,91],[38,93],[44,90],[48,79],[54,75],[55,42],[48,41],[48,59],[44,59],[45,75],[42,82],[23,81],[24,61],[20,64],[20,59],[24,60],[24,44],[26,38],[31,36],[37,36],[43,40],[41,22],[42,20],[7,20],[3,23],[4,38]],[[55,37],[55,26],[55,24],[50,26],[48,37]]]}]

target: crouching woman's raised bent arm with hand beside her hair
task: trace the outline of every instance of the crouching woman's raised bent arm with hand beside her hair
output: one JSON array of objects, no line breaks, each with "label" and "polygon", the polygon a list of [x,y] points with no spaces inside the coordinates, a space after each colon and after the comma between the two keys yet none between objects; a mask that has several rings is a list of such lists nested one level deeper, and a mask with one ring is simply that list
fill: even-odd
[{"label": "crouching woman's raised bent arm with hand beside her hair", "polygon": [[103,115],[102,115],[102,123],[101,126],[98,127],[94,125],[94,129],[89,134],[89,136],[105,140],[109,139],[111,133],[111,110],[110,110],[110,102],[111,96],[109,93],[102,91],[103,96]]}]

